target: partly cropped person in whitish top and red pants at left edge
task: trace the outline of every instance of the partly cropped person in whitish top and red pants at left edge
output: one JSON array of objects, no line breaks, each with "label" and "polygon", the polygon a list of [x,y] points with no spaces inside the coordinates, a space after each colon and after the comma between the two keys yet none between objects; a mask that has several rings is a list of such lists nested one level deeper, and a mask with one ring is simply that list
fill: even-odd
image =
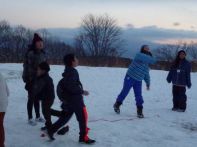
[{"label": "partly cropped person in whitish top and red pants at left edge", "polygon": [[0,73],[0,147],[5,147],[4,116],[8,106],[9,90],[4,77]]}]

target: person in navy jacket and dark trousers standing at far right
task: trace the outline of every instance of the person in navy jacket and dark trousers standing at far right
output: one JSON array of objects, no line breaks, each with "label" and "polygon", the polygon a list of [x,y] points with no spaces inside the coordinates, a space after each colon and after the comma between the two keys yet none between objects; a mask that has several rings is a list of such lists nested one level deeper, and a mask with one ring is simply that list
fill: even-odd
[{"label": "person in navy jacket and dark trousers standing at far right", "polygon": [[167,82],[173,84],[173,111],[185,112],[186,86],[191,88],[191,64],[186,60],[186,52],[181,50],[167,76]]}]

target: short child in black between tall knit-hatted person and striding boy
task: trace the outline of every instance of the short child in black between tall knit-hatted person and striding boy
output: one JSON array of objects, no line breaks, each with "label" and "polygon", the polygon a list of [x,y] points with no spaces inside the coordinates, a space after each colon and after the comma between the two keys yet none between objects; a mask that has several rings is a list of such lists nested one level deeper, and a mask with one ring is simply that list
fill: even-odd
[{"label": "short child in black between tall knit-hatted person and striding boy", "polygon": [[37,78],[34,81],[32,95],[38,98],[42,104],[42,113],[45,118],[45,126],[49,132],[51,129],[51,106],[55,99],[54,84],[49,76],[50,67],[47,62],[38,65]]}]

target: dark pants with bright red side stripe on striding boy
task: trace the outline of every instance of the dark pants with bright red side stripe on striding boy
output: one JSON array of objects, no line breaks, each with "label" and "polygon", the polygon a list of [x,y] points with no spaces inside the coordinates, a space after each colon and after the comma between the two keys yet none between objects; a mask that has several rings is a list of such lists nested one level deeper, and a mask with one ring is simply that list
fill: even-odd
[{"label": "dark pants with bright red side stripe on striding boy", "polygon": [[66,106],[65,113],[62,113],[61,117],[52,125],[52,131],[55,133],[61,127],[63,127],[71,119],[73,114],[76,115],[77,121],[79,122],[80,138],[88,139],[88,128],[87,128],[87,111],[86,107],[81,104],[74,104]]}]

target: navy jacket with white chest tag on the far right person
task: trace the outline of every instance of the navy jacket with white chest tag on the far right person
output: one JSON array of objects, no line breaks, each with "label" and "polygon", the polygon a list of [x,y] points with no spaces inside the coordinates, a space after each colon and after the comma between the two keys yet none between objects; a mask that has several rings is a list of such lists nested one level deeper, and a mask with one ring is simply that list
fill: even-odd
[{"label": "navy jacket with white chest tag on the far right person", "polygon": [[182,60],[178,67],[172,66],[167,76],[168,83],[178,86],[191,87],[191,64],[186,60]]}]

